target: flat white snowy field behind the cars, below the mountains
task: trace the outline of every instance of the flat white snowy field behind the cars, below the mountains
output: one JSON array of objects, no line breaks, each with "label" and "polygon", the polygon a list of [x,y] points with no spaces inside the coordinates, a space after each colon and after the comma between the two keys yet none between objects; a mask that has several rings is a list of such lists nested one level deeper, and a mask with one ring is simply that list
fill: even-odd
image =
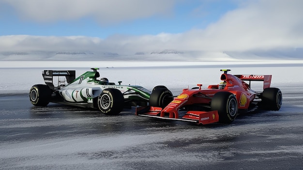
[{"label": "flat white snowy field behind the cars, below the mountains", "polygon": [[[303,82],[303,61],[236,61],[236,62],[0,62],[0,94],[28,93],[34,84],[45,84],[43,70],[76,70],[76,77],[90,68],[100,68],[100,78],[110,82],[143,86],[152,89],[165,85],[168,89],[195,87],[202,83],[220,82],[220,69],[230,74],[273,75],[272,86]],[[256,83],[259,88],[261,83]],[[282,86],[282,87],[281,87]]]}]

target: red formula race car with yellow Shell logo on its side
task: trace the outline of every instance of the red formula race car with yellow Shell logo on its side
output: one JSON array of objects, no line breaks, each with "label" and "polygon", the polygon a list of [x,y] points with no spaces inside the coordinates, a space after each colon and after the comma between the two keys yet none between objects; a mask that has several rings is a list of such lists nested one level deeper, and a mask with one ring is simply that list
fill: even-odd
[{"label": "red formula race car with yellow Shell logo on its side", "polygon": [[[222,82],[201,89],[202,84],[193,89],[183,89],[178,96],[155,89],[150,105],[136,108],[136,115],[195,122],[197,124],[231,123],[238,113],[258,108],[279,110],[282,105],[282,93],[271,88],[272,75],[231,75],[230,70],[221,70]],[[263,92],[251,89],[251,81],[263,81]],[[163,96],[166,95],[166,96]],[[165,103],[161,107],[157,103]],[[183,114],[182,114],[183,112]]]}]

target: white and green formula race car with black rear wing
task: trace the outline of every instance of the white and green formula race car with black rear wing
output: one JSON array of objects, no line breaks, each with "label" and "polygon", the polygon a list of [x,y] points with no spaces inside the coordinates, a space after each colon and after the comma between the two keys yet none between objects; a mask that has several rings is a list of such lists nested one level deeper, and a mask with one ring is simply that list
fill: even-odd
[{"label": "white and green formula race car with black rear wing", "polygon": [[[97,108],[104,114],[117,115],[123,108],[147,106],[151,101],[163,107],[173,99],[165,86],[154,87],[152,94],[141,86],[121,85],[121,81],[116,85],[107,78],[97,79],[100,77],[98,68],[91,69],[77,78],[75,70],[44,70],[42,76],[46,85],[36,84],[30,88],[30,102],[34,106],[46,106],[51,102]],[[57,78],[58,84],[54,82]]]}]

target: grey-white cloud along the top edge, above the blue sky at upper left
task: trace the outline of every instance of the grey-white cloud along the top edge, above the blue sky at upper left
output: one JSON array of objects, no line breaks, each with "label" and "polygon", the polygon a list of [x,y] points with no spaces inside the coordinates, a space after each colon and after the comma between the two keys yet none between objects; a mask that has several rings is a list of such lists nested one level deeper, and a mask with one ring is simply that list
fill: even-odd
[{"label": "grey-white cloud along the top edge, above the blue sky at upper left", "polygon": [[1,0],[26,20],[55,22],[94,17],[100,24],[170,13],[175,0]]}]

